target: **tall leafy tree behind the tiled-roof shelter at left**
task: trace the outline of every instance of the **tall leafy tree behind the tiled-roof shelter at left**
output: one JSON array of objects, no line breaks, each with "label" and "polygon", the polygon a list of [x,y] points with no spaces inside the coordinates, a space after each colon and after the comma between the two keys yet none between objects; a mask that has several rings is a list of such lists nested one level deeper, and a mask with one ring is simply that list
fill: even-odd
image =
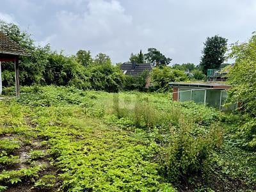
[{"label": "tall leafy tree behind the tiled-roof shelter at left", "polygon": [[[21,31],[19,26],[0,20],[0,31],[10,37],[20,47],[26,49],[31,56],[20,56],[20,84],[30,85],[40,83],[47,63],[47,55],[51,52],[51,47],[36,47],[31,35],[26,31]],[[3,63],[3,84],[4,86],[13,85],[15,79],[13,63]]]}]

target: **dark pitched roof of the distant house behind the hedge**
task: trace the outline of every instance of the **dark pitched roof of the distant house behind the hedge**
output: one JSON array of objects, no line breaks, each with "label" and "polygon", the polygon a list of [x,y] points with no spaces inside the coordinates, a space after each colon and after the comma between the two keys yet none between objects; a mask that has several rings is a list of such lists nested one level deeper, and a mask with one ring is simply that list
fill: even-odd
[{"label": "dark pitched roof of the distant house behind the hedge", "polygon": [[130,76],[137,76],[144,70],[152,71],[152,65],[150,63],[138,63],[134,70],[132,69],[132,63],[123,63],[120,68],[125,72],[125,75]]}]

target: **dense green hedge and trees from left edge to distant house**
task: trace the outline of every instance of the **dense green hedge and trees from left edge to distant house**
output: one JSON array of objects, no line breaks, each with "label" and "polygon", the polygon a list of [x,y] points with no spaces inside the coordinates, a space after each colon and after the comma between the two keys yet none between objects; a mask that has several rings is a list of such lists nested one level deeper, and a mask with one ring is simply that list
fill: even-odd
[{"label": "dense green hedge and trees from left edge to distant house", "polygon": [[[106,54],[97,54],[95,60],[92,60],[90,51],[83,50],[79,50],[76,56],[65,56],[62,52],[52,52],[50,45],[36,47],[28,32],[21,32],[15,24],[1,21],[0,30],[31,54],[20,57],[21,85],[54,84],[108,92],[117,92],[122,88],[124,75],[120,68],[111,65]],[[14,86],[13,63],[3,62],[2,69],[3,86]]]}]

